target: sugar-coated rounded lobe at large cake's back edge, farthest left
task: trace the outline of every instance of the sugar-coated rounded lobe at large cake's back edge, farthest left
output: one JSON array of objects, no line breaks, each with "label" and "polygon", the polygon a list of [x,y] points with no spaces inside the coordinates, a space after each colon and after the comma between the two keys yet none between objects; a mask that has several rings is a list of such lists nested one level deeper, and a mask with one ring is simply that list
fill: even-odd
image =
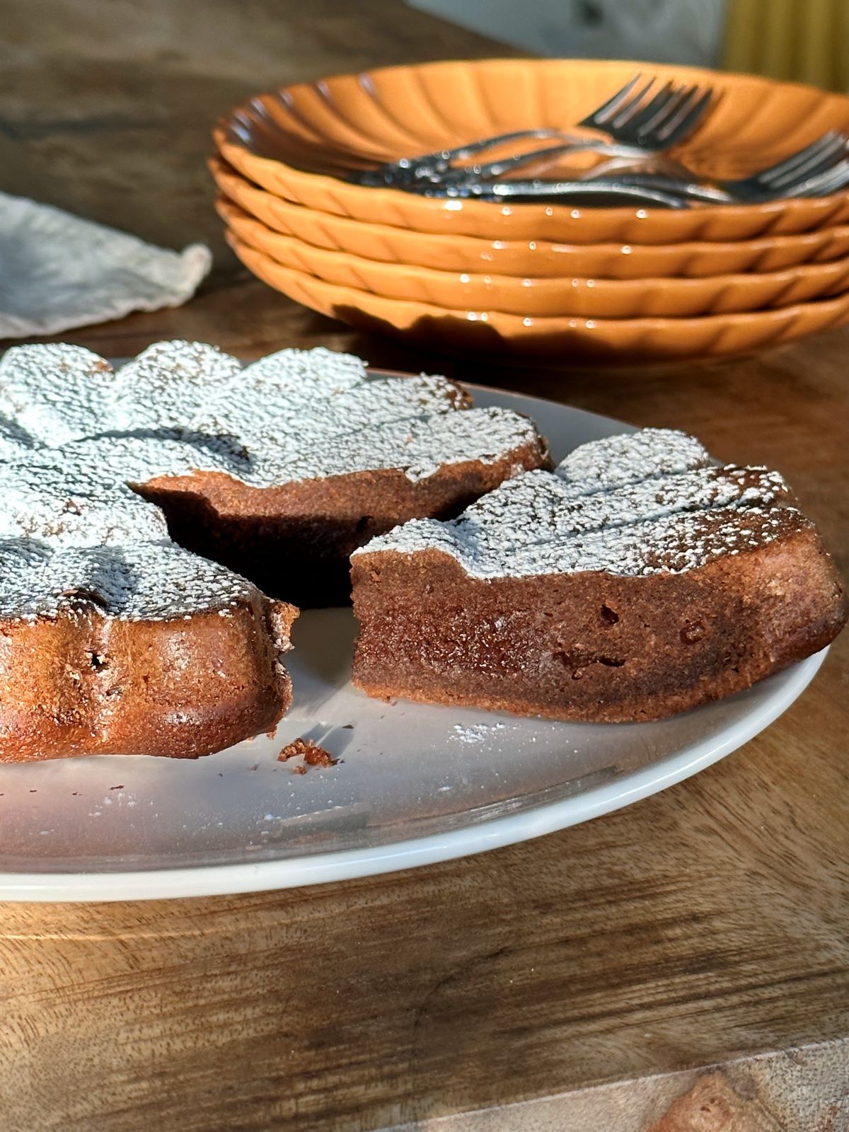
[{"label": "sugar-coated rounded lobe at large cake's back edge, farthest left", "polygon": [[12,346],[0,360],[0,413],[59,447],[97,430],[113,384],[109,362],[83,346]]}]

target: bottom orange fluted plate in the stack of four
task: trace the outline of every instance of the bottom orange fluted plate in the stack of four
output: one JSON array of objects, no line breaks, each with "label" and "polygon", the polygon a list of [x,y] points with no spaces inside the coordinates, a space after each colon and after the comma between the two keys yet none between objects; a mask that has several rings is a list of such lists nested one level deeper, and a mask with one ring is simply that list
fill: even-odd
[{"label": "bottom orange fluted plate in the stack of four", "polygon": [[246,267],[277,291],[360,329],[403,334],[451,353],[492,352],[620,365],[748,353],[849,320],[849,293],[775,310],[704,318],[522,318],[384,299],[283,267],[228,231]]}]

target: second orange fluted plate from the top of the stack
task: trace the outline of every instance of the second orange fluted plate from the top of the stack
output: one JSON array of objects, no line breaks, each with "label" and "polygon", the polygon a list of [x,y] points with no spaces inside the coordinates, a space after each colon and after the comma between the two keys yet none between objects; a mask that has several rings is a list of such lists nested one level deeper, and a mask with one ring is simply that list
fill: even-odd
[{"label": "second orange fluted plate from the top of the stack", "polygon": [[569,245],[546,240],[492,240],[410,232],[389,224],[315,212],[257,188],[221,158],[209,169],[218,188],[246,212],[284,235],[318,248],[383,263],[437,271],[492,272],[530,278],[565,275],[638,280],[701,278],[737,272],[783,271],[849,255],[849,224],[796,235],[766,235],[735,243]]}]

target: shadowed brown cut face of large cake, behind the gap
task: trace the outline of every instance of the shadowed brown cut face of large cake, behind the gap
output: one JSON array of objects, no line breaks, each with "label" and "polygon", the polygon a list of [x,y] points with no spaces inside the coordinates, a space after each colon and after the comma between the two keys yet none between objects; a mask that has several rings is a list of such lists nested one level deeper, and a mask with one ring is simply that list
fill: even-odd
[{"label": "shadowed brown cut face of large cake, behind the gap", "polygon": [[397,469],[256,488],[218,472],[160,477],[137,490],[172,538],[298,606],[351,598],[350,555],[409,518],[452,518],[517,470],[550,466],[544,441],[491,463],[447,464],[412,481]]}]

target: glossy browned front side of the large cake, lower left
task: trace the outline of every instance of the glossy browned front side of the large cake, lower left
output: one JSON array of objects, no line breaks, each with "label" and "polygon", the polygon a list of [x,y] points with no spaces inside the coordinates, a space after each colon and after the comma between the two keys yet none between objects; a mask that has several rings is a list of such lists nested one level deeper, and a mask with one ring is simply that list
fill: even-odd
[{"label": "glossy browned front side of the large cake, lower left", "polygon": [[292,698],[280,655],[298,610],[121,620],[88,607],[0,621],[0,761],[196,758],[273,728]]}]

